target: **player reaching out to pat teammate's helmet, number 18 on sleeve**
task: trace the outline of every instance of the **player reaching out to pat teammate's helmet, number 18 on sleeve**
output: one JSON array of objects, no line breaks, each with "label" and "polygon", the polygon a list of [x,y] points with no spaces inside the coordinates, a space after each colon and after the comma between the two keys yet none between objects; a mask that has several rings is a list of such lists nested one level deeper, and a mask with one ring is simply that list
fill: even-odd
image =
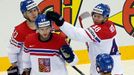
[{"label": "player reaching out to pat teammate's helmet, number 18 on sleeve", "polygon": [[89,56],[91,60],[91,75],[99,75],[96,71],[95,59],[100,53],[108,53],[114,59],[112,75],[122,75],[120,53],[116,44],[116,28],[114,23],[108,20],[110,8],[106,4],[98,4],[92,11],[94,24],[87,29],[73,27],[56,12],[47,12],[48,19],[55,21],[57,26],[72,40],[88,42]]}]

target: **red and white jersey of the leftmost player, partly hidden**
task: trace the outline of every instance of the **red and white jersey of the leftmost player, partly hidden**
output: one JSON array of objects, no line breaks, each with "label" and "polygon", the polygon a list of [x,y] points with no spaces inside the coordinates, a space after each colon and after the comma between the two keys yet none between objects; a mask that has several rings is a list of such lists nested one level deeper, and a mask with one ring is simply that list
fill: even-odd
[{"label": "red and white jersey of the leftmost player, partly hidden", "polygon": [[18,67],[20,73],[22,73],[22,46],[25,40],[25,37],[28,34],[35,33],[35,30],[31,30],[26,21],[22,22],[18,26],[15,27],[14,32],[12,33],[12,37],[10,39],[9,47],[8,47],[8,56],[11,63],[18,62]]}]

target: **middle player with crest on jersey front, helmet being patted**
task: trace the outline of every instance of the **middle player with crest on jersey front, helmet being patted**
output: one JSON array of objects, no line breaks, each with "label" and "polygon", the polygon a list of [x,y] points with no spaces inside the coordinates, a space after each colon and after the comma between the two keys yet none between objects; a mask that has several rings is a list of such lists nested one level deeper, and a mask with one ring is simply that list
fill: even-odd
[{"label": "middle player with crest on jersey front, helmet being patted", "polygon": [[28,35],[24,42],[23,75],[68,75],[65,60],[74,65],[77,57],[65,37],[51,32],[51,22],[44,14],[35,23],[37,33]]}]

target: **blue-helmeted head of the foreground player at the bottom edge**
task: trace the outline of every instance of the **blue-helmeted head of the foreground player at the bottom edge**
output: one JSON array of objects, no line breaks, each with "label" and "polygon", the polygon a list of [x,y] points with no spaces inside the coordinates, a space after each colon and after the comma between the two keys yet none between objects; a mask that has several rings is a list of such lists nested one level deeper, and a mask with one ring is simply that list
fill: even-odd
[{"label": "blue-helmeted head of the foreground player at the bottom edge", "polygon": [[96,70],[101,75],[112,75],[113,64],[113,58],[109,54],[102,53],[96,57]]}]

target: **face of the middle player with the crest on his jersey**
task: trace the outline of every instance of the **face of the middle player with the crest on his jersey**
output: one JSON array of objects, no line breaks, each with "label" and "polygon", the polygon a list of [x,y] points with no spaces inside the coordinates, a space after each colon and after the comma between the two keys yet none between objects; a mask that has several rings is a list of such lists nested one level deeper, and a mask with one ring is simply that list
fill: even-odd
[{"label": "face of the middle player with the crest on his jersey", "polygon": [[51,26],[40,27],[38,29],[38,32],[41,35],[41,37],[45,40],[49,38],[51,29],[52,29]]}]

